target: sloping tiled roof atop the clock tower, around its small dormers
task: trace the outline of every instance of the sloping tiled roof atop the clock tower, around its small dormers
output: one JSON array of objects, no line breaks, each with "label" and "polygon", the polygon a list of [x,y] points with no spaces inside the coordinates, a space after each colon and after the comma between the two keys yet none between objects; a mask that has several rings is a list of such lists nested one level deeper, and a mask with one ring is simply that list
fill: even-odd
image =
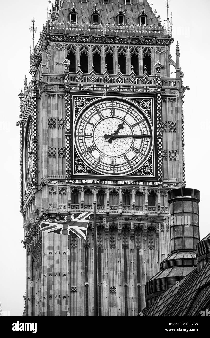
[{"label": "sloping tiled roof atop the clock tower, around its small dormers", "polygon": [[160,24],[147,0],[143,0],[141,4],[138,0],[132,0],[132,5],[129,3],[125,4],[125,0],[110,0],[110,4],[108,4],[107,1],[103,4],[103,0],[87,0],[87,2],[81,2],[81,0],[64,0],[59,8],[57,18],[60,22],[69,21],[69,13],[71,12],[73,4],[78,13],[77,20],[79,23],[90,23],[91,14],[95,8],[97,8],[100,13],[99,23],[116,24],[116,16],[122,7],[122,11],[125,14],[125,24],[138,25],[138,17],[142,12],[142,7],[144,7],[145,13],[147,14],[148,25],[152,24],[156,26]]}]

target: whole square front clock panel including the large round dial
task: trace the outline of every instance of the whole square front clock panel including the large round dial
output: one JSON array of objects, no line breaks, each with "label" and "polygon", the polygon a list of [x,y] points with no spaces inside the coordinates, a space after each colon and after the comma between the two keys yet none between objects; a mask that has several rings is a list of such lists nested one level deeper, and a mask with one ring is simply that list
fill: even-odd
[{"label": "whole square front clock panel including the large round dial", "polygon": [[[86,177],[87,175],[97,177],[112,176],[116,179],[122,176],[127,178],[142,176],[142,178],[148,177],[150,179],[155,177],[153,97],[87,97],[73,95],[72,102],[73,177]],[[123,115],[121,114],[120,116],[119,106],[122,107],[123,112]],[[125,116],[126,114],[128,115]],[[94,116],[97,116],[97,118],[94,118]],[[118,144],[118,147],[115,147],[114,155],[112,153],[109,154],[106,152],[107,147],[105,149],[100,148],[100,146],[103,148],[106,143],[104,134],[110,136],[112,132],[116,131],[117,126],[123,122],[125,123],[125,128],[120,130],[123,135],[119,135],[118,139],[117,134],[117,141],[120,140],[120,142],[116,142],[116,139],[113,141],[114,144]],[[102,128],[100,128],[100,124],[102,124]],[[112,124],[112,129],[110,129]],[[141,130],[139,129],[140,124]],[[97,132],[100,136],[98,141],[95,138]],[[136,139],[134,137],[136,134],[139,137],[149,135],[149,138]],[[128,135],[128,138],[121,139],[125,135]],[[130,138],[130,135],[133,137]],[[124,141],[122,142],[122,140]],[[125,150],[120,156],[119,153],[116,153],[117,149],[122,148],[119,145],[123,145]],[[121,167],[124,166],[123,170],[110,170],[110,168],[116,168],[117,164],[119,168],[119,158],[123,158],[120,163]]]}]

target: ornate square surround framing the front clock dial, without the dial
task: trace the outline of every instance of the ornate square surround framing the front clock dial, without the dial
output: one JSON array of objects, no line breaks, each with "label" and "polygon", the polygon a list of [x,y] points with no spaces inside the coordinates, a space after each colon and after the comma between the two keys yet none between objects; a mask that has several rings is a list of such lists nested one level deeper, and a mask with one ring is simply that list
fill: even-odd
[{"label": "ornate square surround framing the front clock dial, without the dial", "polygon": [[[146,117],[146,120],[149,122],[151,133],[152,133],[152,145],[147,156],[146,160],[141,163],[141,165],[131,173],[120,173],[113,175],[112,173],[106,174],[105,172],[100,172],[99,170],[94,170],[93,166],[90,167],[87,164],[87,161],[84,161],[82,156],[80,155],[78,148],[76,146],[76,137],[75,137],[75,126],[78,116],[81,116],[86,110],[88,110],[95,103],[105,101],[105,100],[115,100],[122,101],[127,104],[132,105],[139,111],[139,114]],[[93,177],[97,179],[110,179],[110,177],[114,177],[115,180],[125,178],[127,179],[143,179],[143,180],[156,180],[157,173],[157,141],[156,141],[156,117],[155,117],[155,96],[121,96],[120,94],[117,96],[101,96],[100,94],[96,94],[93,96],[89,95],[72,95],[72,107],[71,107],[71,167],[72,175],[71,178],[87,178]],[[76,182],[76,181],[75,181]]]}]

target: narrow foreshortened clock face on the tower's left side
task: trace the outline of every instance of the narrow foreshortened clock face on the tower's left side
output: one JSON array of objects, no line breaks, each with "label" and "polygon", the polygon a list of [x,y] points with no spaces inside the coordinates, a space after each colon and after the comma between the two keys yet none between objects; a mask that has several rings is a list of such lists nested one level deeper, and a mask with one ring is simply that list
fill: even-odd
[{"label": "narrow foreshortened clock face on the tower's left side", "polygon": [[32,148],[32,118],[28,124],[28,130],[25,140],[25,176],[27,188],[30,189],[33,179],[33,148]]}]

